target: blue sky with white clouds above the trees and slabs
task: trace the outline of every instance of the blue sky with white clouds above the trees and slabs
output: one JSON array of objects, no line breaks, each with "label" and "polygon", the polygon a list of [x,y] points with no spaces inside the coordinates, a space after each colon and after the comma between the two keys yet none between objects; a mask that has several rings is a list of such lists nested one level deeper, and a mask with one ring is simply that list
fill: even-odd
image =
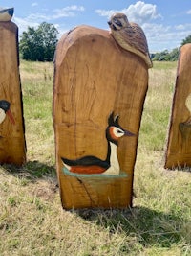
[{"label": "blue sky with white clouds above the trees and slabs", "polygon": [[191,35],[191,0],[8,0],[0,1],[0,6],[14,7],[12,21],[19,35],[43,21],[52,23],[60,35],[81,24],[109,30],[113,12],[124,12],[141,26],[151,53],[179,47]]}]

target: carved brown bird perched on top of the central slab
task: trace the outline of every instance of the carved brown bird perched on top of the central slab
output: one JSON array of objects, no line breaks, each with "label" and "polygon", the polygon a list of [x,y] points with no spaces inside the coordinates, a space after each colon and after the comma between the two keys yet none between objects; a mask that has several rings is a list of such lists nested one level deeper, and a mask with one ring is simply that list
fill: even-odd
[{"label": "carved brown bird perched on top of the central slab", "polygon": [[129,22],[124,13],[114,13],[108,24],[111,28],[111,34],[123,49],[130,51],[147,64],[148,68],[153,66],[146,36],[138,24]]}]

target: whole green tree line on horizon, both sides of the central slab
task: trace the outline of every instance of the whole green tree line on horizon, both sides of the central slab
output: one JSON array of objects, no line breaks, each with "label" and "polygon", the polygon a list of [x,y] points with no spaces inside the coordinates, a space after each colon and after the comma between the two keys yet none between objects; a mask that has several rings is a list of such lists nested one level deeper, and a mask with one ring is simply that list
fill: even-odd
[{"label": "whole green tree line on horizon, both sides of the central slab", "polygon": [[[32,61],[53,61],[54,51],[57,44],[58,31],[46,22],[41,23],[37,29],[28,27],[27,32],[21,35],[19,50],[21,58]],[[191,35],[182,40],[181,46],[191,43]],[[172,51],[164,50],[159,53],[151,54],[153,61],[175,61],[179,58],[180,48]]]}]

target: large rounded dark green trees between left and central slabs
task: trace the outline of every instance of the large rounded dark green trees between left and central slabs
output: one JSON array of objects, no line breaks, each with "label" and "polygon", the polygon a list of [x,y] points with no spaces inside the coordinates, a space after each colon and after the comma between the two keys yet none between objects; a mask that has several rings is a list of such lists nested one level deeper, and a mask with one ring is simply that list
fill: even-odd
[{"label": "large rounded dark green trees between left and central slabs", "polygon": [[20,52],[26,60],[52,61],[57,43],[58,31],[46,22],[41,23],[38,28],[29,27],[23,32],[20,40]]}]

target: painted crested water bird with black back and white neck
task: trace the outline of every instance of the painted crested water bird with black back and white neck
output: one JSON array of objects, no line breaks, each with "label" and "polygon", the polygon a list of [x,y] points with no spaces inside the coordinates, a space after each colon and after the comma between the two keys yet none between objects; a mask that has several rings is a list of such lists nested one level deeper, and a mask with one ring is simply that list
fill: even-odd
[{"label": "painted crested water bird with black back and white neck", "polygon": [[64,166],[71,173],[119,175],[120,167],[117,159],[118,139],[123,136],[135,136],[135,134],[121,128],[118,124],[118,118],[118,115],[114,117],[114,112],[108,118],[108,127],[106,128],[108,150],[104,160],[93,155],[84,156],[75,160],[61,157]]}]

